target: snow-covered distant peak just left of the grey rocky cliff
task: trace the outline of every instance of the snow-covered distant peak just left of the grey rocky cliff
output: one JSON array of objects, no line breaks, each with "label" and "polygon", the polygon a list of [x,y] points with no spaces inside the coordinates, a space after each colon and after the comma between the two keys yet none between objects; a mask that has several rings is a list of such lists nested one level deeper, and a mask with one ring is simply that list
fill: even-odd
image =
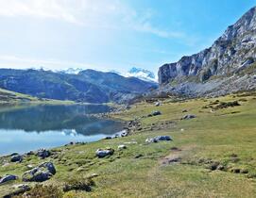
[{"label": "snow-covered distant peak just left of the grey rocky cliff", "polygon": [[149,82],[156,82],[157,81],[156,76],[155,76],[154,73],[152,73],[148,70],[145,70],[145,69],[142,69],[142,68],[136,68],[136,67],[131,68],[128,71],[128,74],[126,74],[126,76],[128,76],[128,77],[130,77],[130,76],[137,77],[139,79],[149,81]]}]

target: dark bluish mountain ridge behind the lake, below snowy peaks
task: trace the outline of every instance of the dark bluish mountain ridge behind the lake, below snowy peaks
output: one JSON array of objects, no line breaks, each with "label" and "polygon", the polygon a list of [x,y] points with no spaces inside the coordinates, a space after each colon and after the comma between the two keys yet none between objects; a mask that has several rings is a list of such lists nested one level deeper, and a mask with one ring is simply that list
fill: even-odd
[{"label": "dark bluish mountain ridge behind the lake, below snowy peaks", "polygon": [[156,89],[156,85],[134,77],[94,70],[62,74],[32,69],[0,69],[0,88],[39,98],[88,103],[121,103]]}]

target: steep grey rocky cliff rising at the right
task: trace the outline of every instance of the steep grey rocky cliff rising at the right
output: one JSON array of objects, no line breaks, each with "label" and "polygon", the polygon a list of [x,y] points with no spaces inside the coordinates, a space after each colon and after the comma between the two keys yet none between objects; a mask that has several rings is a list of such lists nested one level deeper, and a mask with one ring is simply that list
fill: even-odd
[{"label": "steep grey rocky cliff rising at the right", "polygon": [[222,95],[256,88],[256,8],[198,54],[159,69],[161,92]]}]

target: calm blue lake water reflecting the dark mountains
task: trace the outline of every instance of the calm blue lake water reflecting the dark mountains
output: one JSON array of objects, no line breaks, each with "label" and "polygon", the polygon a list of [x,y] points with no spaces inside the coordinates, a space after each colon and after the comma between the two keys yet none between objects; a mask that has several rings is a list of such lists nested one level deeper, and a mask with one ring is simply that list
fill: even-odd
[{"label": "calm blue lake water reflecting the dark mountains", "polygon": [[122,130],[119,122],[90,117],[110,107],[0,106],[0,155],[94,141]]}]

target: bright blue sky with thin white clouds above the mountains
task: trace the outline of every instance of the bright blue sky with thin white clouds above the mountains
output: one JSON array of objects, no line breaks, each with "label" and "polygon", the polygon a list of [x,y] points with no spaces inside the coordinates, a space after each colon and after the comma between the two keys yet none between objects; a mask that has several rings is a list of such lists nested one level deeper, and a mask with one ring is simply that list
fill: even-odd
[{"label": "bright blue sky with thin white clouds above the mountains", "polygon": [[0,67],[157,72],[210,47],[256,0],[0,0]]}]

